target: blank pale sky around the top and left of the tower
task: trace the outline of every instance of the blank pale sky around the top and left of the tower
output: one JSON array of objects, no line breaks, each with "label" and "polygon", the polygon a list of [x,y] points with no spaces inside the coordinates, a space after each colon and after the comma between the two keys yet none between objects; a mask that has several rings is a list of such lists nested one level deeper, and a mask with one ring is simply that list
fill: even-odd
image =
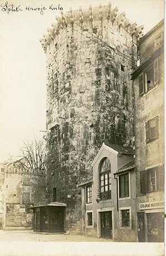
[{"label": "blank pale sky around the top and left of the tower", "polygon": [[[0,3],[4,5],[6,1]],[[10,1],[9,1],[10,2]],[[22,0],[12,1],[14,6],[63,7],[63,11],[108,4],[107,0]],[[163,1],[112,0],[119,12],[138,26],[144,33],[163,18]],[[58,11],[13,12],[7,14],[0,7],[0,162],[11,155],[19,155],[23,140],[43,135],[46,113],[46,59],[39,38],[45,34]]]}]

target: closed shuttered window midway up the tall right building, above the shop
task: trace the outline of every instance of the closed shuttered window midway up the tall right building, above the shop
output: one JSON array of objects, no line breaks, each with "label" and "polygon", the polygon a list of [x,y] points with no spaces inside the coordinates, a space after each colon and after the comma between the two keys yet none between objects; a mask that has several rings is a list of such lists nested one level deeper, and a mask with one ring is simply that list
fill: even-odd
[{"label": "closed shuttered window midway up the tall right building, above the shop", "polygon": [[158,116],[145,123],[146,143],[158,138]]}]

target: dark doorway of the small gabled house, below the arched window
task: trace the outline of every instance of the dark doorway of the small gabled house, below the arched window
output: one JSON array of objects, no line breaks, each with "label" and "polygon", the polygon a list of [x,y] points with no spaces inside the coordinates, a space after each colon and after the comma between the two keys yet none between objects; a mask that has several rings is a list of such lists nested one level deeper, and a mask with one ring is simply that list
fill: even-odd
[{"label": "dark doorway of the small gabled house, below the arched window", "polygon": [[101,238],[112,239],[112,212],[101,212]]}]

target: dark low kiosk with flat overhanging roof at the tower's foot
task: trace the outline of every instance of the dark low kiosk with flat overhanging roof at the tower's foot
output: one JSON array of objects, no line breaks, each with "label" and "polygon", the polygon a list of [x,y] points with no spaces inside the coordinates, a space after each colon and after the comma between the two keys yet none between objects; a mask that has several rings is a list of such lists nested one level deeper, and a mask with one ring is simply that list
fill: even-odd
[{"label": "dark low kiosk with flat overhanging roof at the tower's foot", "polygon": [[34,214],[33,230],[37,232],[66,232],[66,204],[50,203],[31,207]]}]

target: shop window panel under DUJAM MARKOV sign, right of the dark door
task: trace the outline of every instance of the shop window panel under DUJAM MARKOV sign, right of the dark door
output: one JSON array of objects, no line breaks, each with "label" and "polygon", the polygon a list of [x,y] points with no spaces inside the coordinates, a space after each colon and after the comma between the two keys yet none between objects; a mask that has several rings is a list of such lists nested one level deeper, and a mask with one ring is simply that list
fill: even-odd
[{"label": "shop window panel under DUJAM MARKOV sign, right of the dark door", "polygon": [[164,242],[164,213],[147,213],[148,242]]}]

